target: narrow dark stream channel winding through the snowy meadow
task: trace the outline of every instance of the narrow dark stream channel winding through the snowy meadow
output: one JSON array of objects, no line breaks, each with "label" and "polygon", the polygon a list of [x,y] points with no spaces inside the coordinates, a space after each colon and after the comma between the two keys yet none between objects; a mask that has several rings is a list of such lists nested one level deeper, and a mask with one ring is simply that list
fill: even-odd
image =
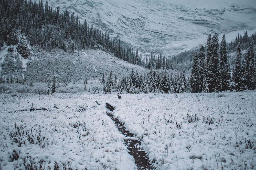
[{"label": "narrow dark stream channel winding through the snowy meadow", "polygon": [[[106,103],[106,105],[109,110],[114,110],[114,108],[110,104]],[[117,118],[114,118],[112,112],[107,112],[107,115],[113,120],[116,127],[123,135],[127,137],[134,137],[134,134],[125,129],[125,126],[122,122],[120,122]],[[135,164],[137,165],[138,170],[155,169],[148,160],[146,152],[141,147],[140,141],[133,139],[124,139],[124,143],[127,146],[129,153],[134,157]]]}]

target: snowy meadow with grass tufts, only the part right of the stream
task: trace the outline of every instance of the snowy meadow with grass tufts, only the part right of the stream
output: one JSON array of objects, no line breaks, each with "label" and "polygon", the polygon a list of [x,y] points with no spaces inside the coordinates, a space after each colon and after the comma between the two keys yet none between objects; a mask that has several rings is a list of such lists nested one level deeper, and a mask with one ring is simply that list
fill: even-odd
[{"label": "snowy meadow with grass tufts, only the part right of the stream", "polygon": [[114,115],[142,139],[157,169],[256,168],[255,91],[122,99]]}]

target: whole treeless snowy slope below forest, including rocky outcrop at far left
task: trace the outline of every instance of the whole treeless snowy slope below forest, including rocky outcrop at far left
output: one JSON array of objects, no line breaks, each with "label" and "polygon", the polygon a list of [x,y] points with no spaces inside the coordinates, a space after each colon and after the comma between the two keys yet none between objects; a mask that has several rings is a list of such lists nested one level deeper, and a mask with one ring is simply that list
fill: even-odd
[{"label": "whole treeless snowy slope below forest, including rocky outcrop at far left", "polygon": [[1,74],[23,78],[25,76],[28,81],[34,82],[49,82],[53,75],[56,75],[59,82],[64,83],[83,82],[85,79],[98,81],[103,73],[106,79],[110,69],[112,69],[113,78],[115,75],[121,78],[132,68],[139,72],[145,70],[101,50],[88,49],[77,53],[65,53],[62,50],[47,51],[33,48],[33,54],[28,59],[23,59],[17,58],[17,52],[11,53],[7,50],[8,48],[4,46],[0,52],[0,65],[3,68]]}]

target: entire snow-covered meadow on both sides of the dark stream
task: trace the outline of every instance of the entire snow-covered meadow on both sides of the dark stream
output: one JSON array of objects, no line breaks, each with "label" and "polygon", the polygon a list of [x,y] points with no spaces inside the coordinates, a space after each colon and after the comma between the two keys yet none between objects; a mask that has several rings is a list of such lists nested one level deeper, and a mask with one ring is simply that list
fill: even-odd
[{"label": "entire snow-covered meadow on both sides of the dark stream", "polygon": [[[245,91],[1,94],[0,169],[136,169],[106,102],[156,169],[256,168],[256,91]],[[8,113],[32,103],[47,110]]]}]

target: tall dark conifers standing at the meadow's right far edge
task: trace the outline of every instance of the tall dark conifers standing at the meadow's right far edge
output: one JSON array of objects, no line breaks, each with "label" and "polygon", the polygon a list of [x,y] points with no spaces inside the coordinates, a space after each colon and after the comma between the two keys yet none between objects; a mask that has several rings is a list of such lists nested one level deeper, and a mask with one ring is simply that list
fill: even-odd
[{"label": "tall dark conifers standing at the meadow's right far edge", "polygon": [[[247,43],[247,41],[244,42]],[[225,34],[221,43],[219,43],[217,33],[212,37],[209,34],[206,47],[201,46],[199,52],[196,52],[193,56],[190,91],[205,93],[227,90],[254,90],[256,88],[255,78],[255,50],[252,39],[249,48],[243,55],[240,42],[237,42],[236,62],[231,72]]]}]

